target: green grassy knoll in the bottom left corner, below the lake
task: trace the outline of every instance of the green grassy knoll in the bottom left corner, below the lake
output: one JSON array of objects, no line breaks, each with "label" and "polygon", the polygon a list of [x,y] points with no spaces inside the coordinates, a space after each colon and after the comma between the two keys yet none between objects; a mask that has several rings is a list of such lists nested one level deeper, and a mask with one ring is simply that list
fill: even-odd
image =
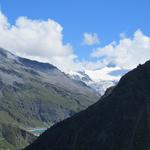
[{"label": "green grassy knoll in the bottom left corner, below the lake", "polygon": [[19,150],[36,139],[34,135],[12,124],[0,125],[0,149]]}]

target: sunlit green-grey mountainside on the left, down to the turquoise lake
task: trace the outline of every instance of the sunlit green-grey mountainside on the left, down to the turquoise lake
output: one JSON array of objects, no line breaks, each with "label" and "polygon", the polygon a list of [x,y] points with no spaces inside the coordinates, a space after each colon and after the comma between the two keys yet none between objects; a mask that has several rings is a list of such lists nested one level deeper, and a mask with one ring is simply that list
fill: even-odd
[{"label": "sunlit green-grey mountainside on the left, down to the turquoise lake", "polygon": [[28,128],[50,127],[98,99],[95,90],[57,67],[0,48],[0,148],[7,143],[20,149],[35,139]]}]

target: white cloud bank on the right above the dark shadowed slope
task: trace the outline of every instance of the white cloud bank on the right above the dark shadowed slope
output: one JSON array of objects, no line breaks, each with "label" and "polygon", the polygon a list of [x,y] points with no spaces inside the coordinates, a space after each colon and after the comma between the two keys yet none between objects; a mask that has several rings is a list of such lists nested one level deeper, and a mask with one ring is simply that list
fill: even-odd
[{"label": "white cloud bank on the right above the dark shadowed slope", "polygon": [[133,38],[123,37],[119,43],[112,42],[105,47],[97,48],[91,56],[101,58],[107,64],[132,69],[150,59],[150,37],[137,30]]}]

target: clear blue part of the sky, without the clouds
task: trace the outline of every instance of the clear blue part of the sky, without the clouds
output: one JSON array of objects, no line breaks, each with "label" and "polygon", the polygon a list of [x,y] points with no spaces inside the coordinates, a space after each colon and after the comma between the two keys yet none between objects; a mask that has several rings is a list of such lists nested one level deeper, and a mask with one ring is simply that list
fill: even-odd
[{"label": "clear blue part of the sky, without the clouds", "polygon": [[[98,47],[119,42],[120,33],[133,37],[140,29],[150,36],[149,0],[0,0],[2,12],[14,24],[19,16],[55,20],[63,27],[63,41],[70,43],[79,60],[91,58]],[[96,33],[100,43],[85,45],[83,34]]]}]

